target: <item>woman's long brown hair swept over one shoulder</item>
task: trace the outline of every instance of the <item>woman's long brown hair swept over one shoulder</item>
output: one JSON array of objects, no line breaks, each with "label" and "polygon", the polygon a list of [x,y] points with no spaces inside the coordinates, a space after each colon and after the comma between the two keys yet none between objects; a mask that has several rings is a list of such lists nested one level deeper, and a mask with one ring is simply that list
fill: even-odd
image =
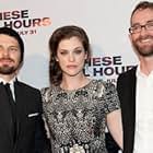
[{"label": "woman's long brown hair swept over one shoulder", "polygon": [[49,50],[50,50],[49,80],[50,80],[50,84],[59,85],[62,80],[62,71],[60,69],[58,61],[56,60],[58,45],[62,39],[67,39],[67,38],[69,39],[73,36],[76,36],[81,40],[81,43],[84,47],[84,50],[87,54],[86,60],[89,60],[91,58],[89,37],[83,28],[81,28],[79,26],[74,26],[74,25],[62,26],[62,27],[57,28],[52,33],[52,35],[49,39]]}]

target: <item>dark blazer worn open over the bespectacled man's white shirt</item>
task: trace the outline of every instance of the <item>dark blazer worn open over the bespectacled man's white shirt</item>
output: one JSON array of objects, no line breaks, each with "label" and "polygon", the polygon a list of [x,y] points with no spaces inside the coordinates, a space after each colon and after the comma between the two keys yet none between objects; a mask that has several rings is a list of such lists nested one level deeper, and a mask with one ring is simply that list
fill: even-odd
[{"label": "dark blazer worn open over the bespectacled man's white shirt", "polygon": [[136,123],[136,69],[120,74],[117,79],[117,91],[121,105],[123,126],[123,153],[133,152]]}]

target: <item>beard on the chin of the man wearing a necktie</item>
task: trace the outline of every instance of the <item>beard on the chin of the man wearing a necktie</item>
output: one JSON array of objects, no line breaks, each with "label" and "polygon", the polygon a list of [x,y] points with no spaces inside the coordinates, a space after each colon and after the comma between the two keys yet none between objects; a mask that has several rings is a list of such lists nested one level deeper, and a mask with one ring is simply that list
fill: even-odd
[{"label": "beard on the chin of the man wearing a necktie", "polygon": [[1,66],[0,67],[0,74],[12,74],[17,70],[15,67],[9,67],[9,66]]}]

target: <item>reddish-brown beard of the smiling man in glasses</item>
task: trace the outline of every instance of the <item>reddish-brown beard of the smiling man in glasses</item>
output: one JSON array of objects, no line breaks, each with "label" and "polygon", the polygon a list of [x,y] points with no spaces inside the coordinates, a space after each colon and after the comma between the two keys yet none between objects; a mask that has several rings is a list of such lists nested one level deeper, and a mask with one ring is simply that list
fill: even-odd
[{"label": "reddish-brown beard of the smiling man in glasses", "polygon": [[[153,40],[153,36],[148,36],[150,39]],[[145,37],[145,39],[148,38]],[[142,57],[152,57],[153,56],[153,43],[151,45],[139,45],[139,42],[141,42],[141,37],[137,40],[132,42],[132,45],[136,49],[136,51],[142,56]],[[143,38],[144,39],[144,38]]]}]

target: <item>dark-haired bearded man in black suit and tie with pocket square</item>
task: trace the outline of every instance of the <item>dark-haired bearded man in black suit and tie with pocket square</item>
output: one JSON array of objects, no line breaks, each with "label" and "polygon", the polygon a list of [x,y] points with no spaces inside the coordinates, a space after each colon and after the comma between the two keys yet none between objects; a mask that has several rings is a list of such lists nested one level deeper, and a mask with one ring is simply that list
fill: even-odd
[{"label": "dark-haired bearded man in black suit and tie with pocket square", "polygon": [[38,90],[20,82],[24,44],[20,35],[0,27],[0,152],[43,153],[47,139]]}]

